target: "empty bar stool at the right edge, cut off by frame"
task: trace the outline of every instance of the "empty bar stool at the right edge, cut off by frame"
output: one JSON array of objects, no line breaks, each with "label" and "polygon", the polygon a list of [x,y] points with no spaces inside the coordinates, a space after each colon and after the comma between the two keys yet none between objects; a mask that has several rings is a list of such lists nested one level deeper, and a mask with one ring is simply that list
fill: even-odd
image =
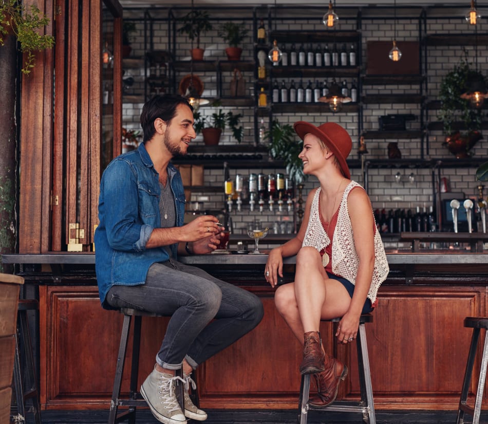
[{"label": "empty bar stool at the right edge, cut off by frame", "polygon": [[457,424],[464,423],[464,414],[473,416],[473,424],[479,423],[481,412],[481,401],[483,398],[483,388],[486,379],[486,364],[488,363],[488,337],[485,335],[483,356],[481,358],[481,368],[478,381],[478,390],[476,392],[475,407],[472,408],[467,404],[467,395],[470,390],[471,377],[473,374],[473,366],[475,363],[476,351],[478,349],[478,341],[480,329],[488,329],[488,318],[474,318],[466,317],[464,319],[464,326],[473,328],[473,335],[471,337],[470,353],[467,356],[466,372],[464,373],[463,387],[461,390],[461,398],[459,400]]}]

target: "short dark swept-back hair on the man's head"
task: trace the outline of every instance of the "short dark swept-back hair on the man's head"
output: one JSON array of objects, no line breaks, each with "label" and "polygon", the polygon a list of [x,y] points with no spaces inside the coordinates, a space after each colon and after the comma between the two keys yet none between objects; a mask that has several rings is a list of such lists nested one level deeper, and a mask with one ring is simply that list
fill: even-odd
[{"label": "short dark swept-back hair on the man's head", "polygon": [[179,104],[184,104],[193,112],[193,107],[188,101],[178,94],[157,94],[151,100],[148,100],[142,107],[141,126],[144,133],[143,142],[151,140],[156,132],[154,121],[157,118],[162,119],[166,124],[176,115],[176,108]]}]

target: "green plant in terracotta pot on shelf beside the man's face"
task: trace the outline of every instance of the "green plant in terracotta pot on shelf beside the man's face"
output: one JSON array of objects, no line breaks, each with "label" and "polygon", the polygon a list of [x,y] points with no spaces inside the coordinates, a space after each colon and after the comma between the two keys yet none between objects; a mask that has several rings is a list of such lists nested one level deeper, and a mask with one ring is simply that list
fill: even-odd
[{"label": "green plant in terracotta pot on shelf beside the man's face", "polygon": [[195,132],[202,134],[206,145],[216,145],[220,141],[222,131],[229,127],[233,137],[240,143],[244,138],[244,127],[239,125],[241,114],[231,111],[224,113],[222,109],[216,110],[211,115],[202,116],[199,111],[193,113],[195,120]]}]

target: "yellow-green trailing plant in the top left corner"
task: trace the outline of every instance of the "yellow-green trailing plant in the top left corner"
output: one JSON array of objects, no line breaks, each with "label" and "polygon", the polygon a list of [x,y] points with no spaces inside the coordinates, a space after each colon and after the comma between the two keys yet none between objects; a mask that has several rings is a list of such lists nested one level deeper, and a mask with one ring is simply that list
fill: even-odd
[{"label": "yellow-green trailing plant in the top left corner", "polygon": [[8,33],[16,36],[20,50],[26,54],[22,72],[27,75],[35,64],[35,51],[51,48],[54,45],[52,35],[40,34],[39,30],[49,24],[49,19],[39,8],[30,5],[28,8],[17,0],[0,2],[0,46]]}]

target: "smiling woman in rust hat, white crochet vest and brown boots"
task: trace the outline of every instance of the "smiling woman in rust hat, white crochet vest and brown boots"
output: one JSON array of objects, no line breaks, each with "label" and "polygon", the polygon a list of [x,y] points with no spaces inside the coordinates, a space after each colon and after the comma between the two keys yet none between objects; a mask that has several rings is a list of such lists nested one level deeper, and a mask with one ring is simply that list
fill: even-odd
[{"label": "smiling woman in rust hat, white crochet vest and brown boots", "polygon": [[300,372],[313,374],[318,390],[309,403],[324,407],[335,400],[347,367],[324,352],[320,321],[342,317],[337,342],[353,341],[360,316],[376,306],[378,288],[389,269],[369,197],[350,179],[349,134],[331,122],[316,127],[299,121],[294,129],[304,141],[298,156],[304,173],[316,176],[320,187],[308,195],[296,236],[271,250],[265,278],[275,287],[278,275],[283,276],[283,257],[296,255],[295,281],[278,287],[275,304],[304,343]]}]

